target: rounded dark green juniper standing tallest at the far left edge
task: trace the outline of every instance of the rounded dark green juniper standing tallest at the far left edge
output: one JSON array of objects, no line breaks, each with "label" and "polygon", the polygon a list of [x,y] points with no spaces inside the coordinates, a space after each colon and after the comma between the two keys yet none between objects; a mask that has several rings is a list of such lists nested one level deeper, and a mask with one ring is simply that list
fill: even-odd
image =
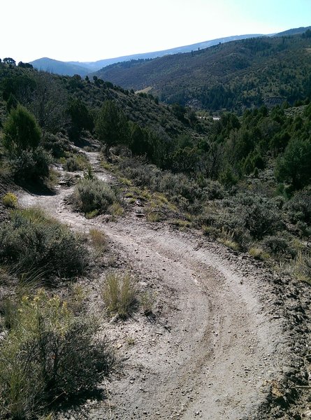
[{"label": "rounded dark green juniper standing tallest at the far left edge", "polygon": [[3,146],[11,156],[20,156],[23,151],[34,151],[41,139],[36,119],[21,105],[10,111],[3,133]]}]

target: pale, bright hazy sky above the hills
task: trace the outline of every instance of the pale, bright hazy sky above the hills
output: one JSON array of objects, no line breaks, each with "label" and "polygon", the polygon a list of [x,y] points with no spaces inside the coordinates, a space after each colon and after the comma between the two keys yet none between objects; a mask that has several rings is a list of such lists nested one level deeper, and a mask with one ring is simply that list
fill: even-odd
[{"label": "pale, bright hazy sky above the hills", "polygon": [[311,0],[0,0],[0,57],[103,58],[311,25]]}]

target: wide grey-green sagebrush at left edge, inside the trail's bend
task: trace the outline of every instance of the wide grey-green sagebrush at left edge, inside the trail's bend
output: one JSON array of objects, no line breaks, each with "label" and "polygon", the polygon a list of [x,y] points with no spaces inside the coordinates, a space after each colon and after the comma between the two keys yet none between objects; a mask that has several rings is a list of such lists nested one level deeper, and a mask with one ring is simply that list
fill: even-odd
[{"label": "wide grey-green sagebrush at left edge, inside the trail's bend", "polygon": [[42,269],[47,276],[82,274],[88,254],[66,226],[38,209],[15,210],[10,223],[0,225],[0,261],[20,270]]}]

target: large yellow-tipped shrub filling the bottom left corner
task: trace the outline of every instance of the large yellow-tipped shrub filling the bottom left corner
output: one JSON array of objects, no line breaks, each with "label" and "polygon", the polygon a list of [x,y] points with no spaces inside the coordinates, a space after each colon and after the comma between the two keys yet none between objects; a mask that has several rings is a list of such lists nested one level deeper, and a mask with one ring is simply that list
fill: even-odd
[{"label": "large yellow-tipped shrub filling the bottom left corner", "polygon": [[0,343],[1,418],[32,419],[59,399],[92,391],[111,360],[96,329],[57,296],[24,295]]}]

